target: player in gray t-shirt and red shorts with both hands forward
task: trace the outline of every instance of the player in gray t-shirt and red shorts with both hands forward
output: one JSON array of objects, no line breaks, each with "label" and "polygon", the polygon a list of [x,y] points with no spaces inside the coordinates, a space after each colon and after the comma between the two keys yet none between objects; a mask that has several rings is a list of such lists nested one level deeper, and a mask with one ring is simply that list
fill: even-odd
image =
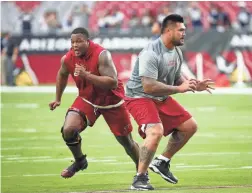
[{"label": "player in gray t-shirt and red shorts with both hands forward", "polygon": [[[170,161],[195,134],[197,123],[170,95],[204,90],[211,93],[213,89],[210,79],[186,79],[181,74],[183,58],[177,46],[184,44],[185,29],[183,17],[167,16],[162,23],[161,36],[140,52],[126,84],[126,106],[144,138],[131,189],[154,189],[149,183],[148,167],[166,181],[178,182],[170,171]],[[162,136],[169,134],[164,152],[151,162]]]}]

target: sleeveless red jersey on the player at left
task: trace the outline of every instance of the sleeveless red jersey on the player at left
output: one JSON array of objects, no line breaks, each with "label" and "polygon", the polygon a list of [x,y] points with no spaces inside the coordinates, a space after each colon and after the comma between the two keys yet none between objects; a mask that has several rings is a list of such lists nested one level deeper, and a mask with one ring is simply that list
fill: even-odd
[{"label": "sleeveless red jersey on the player at left", "polygon": [[65,65],[73,77],[79,90],[79,96],[96,106],[110,106],[118,104],[124,97],[124,88],[121,80],[118,79],[118,87],[112,90],[105,90],[96,87],[91,82],[74,76],[75,64],[82,65],[86,70],[94,75],[100,76],[98,65],[99,55],[105,49],[89,40],[89,48],[83,58],[76,57],[74,51],[70,49],[66,53]]}]

